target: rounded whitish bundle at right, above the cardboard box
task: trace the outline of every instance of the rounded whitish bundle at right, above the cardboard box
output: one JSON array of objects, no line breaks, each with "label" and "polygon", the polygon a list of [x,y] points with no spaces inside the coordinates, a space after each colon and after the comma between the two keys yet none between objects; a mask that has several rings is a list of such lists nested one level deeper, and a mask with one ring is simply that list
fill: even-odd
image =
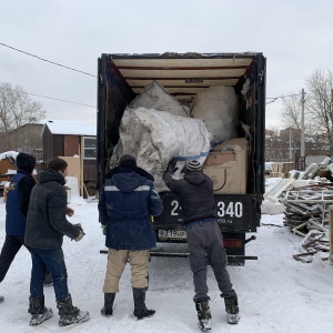
[{"label": "rounded whitish bundle at right, above the cardboard box", "polygon": [[239,104],[232,87],[210,87],[196,93],[191,117],[201,119],[213,134],[212,143],[238,137]]}]

